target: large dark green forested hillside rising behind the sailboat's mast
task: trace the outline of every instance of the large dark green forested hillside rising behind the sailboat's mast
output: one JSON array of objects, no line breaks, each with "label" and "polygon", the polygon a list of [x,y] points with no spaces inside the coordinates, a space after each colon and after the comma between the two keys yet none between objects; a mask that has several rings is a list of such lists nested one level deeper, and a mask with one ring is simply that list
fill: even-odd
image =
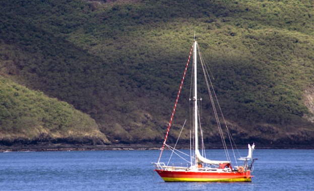
[{"label": "large dark green forested hillside rising behind the sailboat's mast", "polygon": [[90,115],[112,142],[162,142],[196,31],[238,143],[313,143],[310,0],[7,1],[0,18],[0,73]]}]

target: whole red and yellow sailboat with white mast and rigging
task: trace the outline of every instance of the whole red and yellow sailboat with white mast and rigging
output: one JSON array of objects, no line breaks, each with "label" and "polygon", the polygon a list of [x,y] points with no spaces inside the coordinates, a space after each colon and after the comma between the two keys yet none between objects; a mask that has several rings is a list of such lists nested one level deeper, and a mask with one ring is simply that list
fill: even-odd
[{"label": "whole red and yellow sailboat with white mast and rigging", "polygon": [[[202,131],[200,131],[201,133],[199,133],[199,128],[201,129],[201,123],[199,123],[200,117],[199,117],[199,106],[198,106],[198,100],[200,100],[198,98],[198,82],[197,82],[197,53],[199,52],[199,56],[200,56],[200,60],[201,60],[201,64],[203,64],[203,58],[201,57],[200,51],[198,51],[199,47],[198,47],[198,43],[196,41],[196,38],[194,38],[194,43],[193,46],[191,48],[191,52],[190,52],[190,56],[189,59],[187,60],[187,64],[185,67],[185,71],[184,71],[184,75],[181,81],[181,85],[178,91],[178,95],[177,95],[177,99],[174,105],[174,109],[171,115],[171,119],[168,125],[168,129],[166,132],[166,136],[163,142],[163,146],[161,147],[161,152],[159,155],[159,159],[158,162],[153,163],[155,166],[155,171],[160,175],[160,177],[166,181],[166,182],[178,182],[178,181],[192,181],[192,182],[250,182],[252,181],[252,176],[251,172],[253,171],[254,167],[254,161],[257,160],[257,158],[253,158],[253,151],[255,150],[255,144],[253,143],[252,145],[248,144],[248,155],[246,157],[240,157],[238,159],[236,159],[236,157],[234,157],[235,161],[240,160],[242,165],[238,165],[237,162],[235,162],[235,165],[233,166],[233,164],[231,165],[231,159],[230,159],[230,155],[229,155],[229,148],[227,148],[226,146],[226,142],[225,142],[225,138],[223,137],[223,131],[221,129],[221,125],[218,119],[218,114],[217,114],[217,107],[214,106],[214,102],[213,102],[213,98],[217,99],[216,94],[214,92],[213,86],[212,86],[212,82],[211,79],[209,78],[209,80],[206,80],[207,82],[207,86],[208,86],[208,91],[209,91],[209,95],[211,97],[211,101],[212,101],[212,105],[213,105],[213,109],[214,109],[214,113],[216,116],[216,121],[219,127],[219,132],[221,133],[221,139],[223,142],[223,146],[225,148],[225,153],[226,153],[226,158],[225,160],[210,160],[208,158],[206,158],[205,154],[201,154],[200,150],[199,150],[199,134],[202,134]],[[190,99],[193,102],[193,128],[194,129],[194,133],[190,133],[194,135],[194,141],[191,141],[190,145],[192,147],[192,142],[194,144],[194,148],[190,150],[190,154],[192,156],[190,156],[190,160],[185,160],[186,161],[186,165],[180,163],[179,165],[175,165],[175,164],[169,164],[169,161],[167,164],[165,164],[164,162],[161,162],[161,156],[163,151],[165,150],[165,146],[167,146],[169,148],[169,150],[172,151],[171,156],[173,153],[175,154],[180,154],[183,153],[183,151],[181,150],[176,150],[175,146],[171,147],[169,145],[166,144],[167,141],[167,137],[168,137],[168,133],[170,130],[170,126],[172,123],[172,119],[174,116],[174,112],[175,112],[175,108],[178,102],[178,98],[179,98],[179,94],[182,88],[182,84],[183,84],[183,80],[184,80],[184,76],[186,73],[186,69],[187,66],[189,65],[190,62],[190,58],[191,58],[191,54],[193,52],[193,99]],[[203,61],[202,61],[203,60]],[[204,70],[204,66],[202,65],[203,71]],[[206,72],[205,72],[206,73]],[[208,72],[207,72],[208,75]],[[218,101],[217,101],[218,102]],[[220,106],[218,104],[218,108],[220,109]],[[222,113],[221,113],[222,114]],[[223,119],[224,120],[224,119]],[[226,124],[226,123],[225,123]],[[228,137],[230,139],[230,132],[226,126],[226,132],[228,134]],[[192,136],[191,136],[192,137]],[[191,139],[192,140],[192,139]],[[231,142],[231,149],[233,151],[234,154],[234,150],[232,146],[232,138],[230,139]],[[233,141],[234,142],[234,141]],[[203,143],[203,141],[202,141]],[[184,153],[183,153],[184,154]],[[186,153],[185,153],[186,154]],[[234,154],[235,156],[235,154]],[[183,157],[181,157],[183,158]]]}]

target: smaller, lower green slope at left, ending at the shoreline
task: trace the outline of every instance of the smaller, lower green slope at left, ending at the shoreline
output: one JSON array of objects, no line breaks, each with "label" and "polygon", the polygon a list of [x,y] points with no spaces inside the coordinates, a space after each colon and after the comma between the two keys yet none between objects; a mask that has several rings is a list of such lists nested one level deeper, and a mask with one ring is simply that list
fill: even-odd
[{"label": "smaller, lower green slope at left, ending at the shoreline", "polygon": [[108,143],[95,120],[71,105],[0,76],[0,143]]}]

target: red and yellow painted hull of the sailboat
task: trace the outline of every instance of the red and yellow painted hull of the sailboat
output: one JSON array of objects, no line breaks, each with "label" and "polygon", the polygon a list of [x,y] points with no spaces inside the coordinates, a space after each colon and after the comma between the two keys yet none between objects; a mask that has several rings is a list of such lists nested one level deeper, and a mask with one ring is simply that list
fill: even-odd
[{"label": "red and yellow painted hull of the sailboat", "polygon": [[250,172],[167,171],[155,170],[164,181],[250,182]]}]

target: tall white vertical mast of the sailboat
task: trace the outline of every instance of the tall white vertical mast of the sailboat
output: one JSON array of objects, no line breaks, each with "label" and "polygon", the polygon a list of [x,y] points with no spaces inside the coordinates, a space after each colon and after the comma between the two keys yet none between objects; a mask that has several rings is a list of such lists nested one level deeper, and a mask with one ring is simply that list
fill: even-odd
[{"label": "tall white vertical mast of the sailboat", "polygon": [[[194,132],[195,132],[195,151],[199,150],[199,137],[198,137],[198,92],[197,92],[197,42],[194,39]],[[198,164],[198,158],[195,157],[195,163]]]}]

